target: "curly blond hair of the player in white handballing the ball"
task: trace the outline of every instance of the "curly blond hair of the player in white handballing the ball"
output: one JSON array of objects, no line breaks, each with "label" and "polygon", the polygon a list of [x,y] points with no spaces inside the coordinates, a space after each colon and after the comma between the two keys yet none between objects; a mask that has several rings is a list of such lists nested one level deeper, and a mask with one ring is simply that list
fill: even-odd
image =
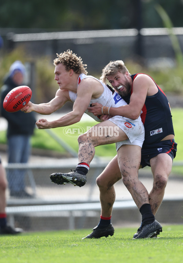
[{"label": "curly blond hair of the player in white handballing the ball", "polygon": [[77,57],[76,54],[72,52],[72,50],[68,49],[67,51],[56,54],[58,58],[54,59],[54,65],[58,65],[59,63],[62,63],[65,66],[65,69],[69,71],[70,69],[73,69],[75,73],[84,73],[85,75],[88,74],[86,71],[86,64],[83,64],[83,61],[81,57]]}]

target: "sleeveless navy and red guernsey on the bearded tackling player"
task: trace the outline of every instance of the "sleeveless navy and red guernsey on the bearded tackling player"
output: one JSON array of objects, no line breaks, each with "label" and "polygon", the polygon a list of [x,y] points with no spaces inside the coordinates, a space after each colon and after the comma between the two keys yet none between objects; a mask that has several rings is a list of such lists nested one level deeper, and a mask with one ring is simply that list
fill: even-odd
[{"label": "sleeveless navy and red guernsey on the bearded tackling player", "polygon": [[[133,81],[138,74],[131,75]],[[154,83],[156,84],[155,81]],[[152,96],[146,96],[145,104],[142,108],[141,119],[145,128],[144,144],[157,143],[167,135],[174,134],[169,102],[166,95],[157,84],[156,87],[158,88],[158,92]],[[131,93],[132,92],[133,86]],[[121,97],[129,104],[130,96],[131,94]]]}]

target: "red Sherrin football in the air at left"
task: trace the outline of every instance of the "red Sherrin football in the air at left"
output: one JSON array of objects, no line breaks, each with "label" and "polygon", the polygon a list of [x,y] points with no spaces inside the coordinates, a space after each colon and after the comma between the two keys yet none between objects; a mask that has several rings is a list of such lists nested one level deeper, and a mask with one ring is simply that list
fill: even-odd
[{"label": "red Sherrin football in the air at left", "polygon": [[11,90],[3,101],[3,108],[7,112],[17,112],[21,110],[32,96],[32,91],[28,86],[19,86]]}]

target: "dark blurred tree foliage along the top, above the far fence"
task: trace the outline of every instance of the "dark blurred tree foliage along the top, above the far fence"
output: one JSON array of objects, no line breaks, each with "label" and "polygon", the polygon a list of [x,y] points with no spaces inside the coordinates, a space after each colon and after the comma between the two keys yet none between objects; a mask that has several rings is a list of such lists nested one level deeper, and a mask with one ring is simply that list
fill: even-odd
[{"label": "dark blurred tree foliage along the top, above the far fence", "polygon": [[0,25],[49,31],[136,28],[142,17],[142,27],[163,27],[154,8],[157,3],[174,27],[182,27],[183,0],[8,0],[1,3]]}]

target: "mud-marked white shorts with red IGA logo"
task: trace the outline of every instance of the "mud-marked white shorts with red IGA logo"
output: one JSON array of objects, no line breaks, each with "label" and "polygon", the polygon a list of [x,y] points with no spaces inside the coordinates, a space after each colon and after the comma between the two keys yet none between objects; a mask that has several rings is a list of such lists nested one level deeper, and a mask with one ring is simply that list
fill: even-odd
[{"label": "mud-marked white shorts with red IGA logo", "polygon": [[118,126],[128,136],[127,140],[116,143],[116,150],[124,144],[138,145],[142,147],[145,131],[140,117],[135,120],[130,120],[121,116],[114,116],[110,118],[109,121],[116,124],[116,126]]}]

